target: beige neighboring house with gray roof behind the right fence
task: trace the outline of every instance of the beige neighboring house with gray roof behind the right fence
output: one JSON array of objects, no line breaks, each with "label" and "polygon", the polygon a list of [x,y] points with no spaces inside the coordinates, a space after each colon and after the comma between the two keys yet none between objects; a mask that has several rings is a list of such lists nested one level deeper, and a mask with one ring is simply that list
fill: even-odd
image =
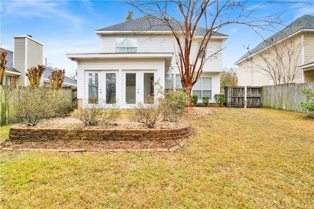
[{"label": "beige neighboring house with gray roof behind the right fence", "polygon": [[314,82],[314,16],[293,21],[235,64],[239,86]]}]

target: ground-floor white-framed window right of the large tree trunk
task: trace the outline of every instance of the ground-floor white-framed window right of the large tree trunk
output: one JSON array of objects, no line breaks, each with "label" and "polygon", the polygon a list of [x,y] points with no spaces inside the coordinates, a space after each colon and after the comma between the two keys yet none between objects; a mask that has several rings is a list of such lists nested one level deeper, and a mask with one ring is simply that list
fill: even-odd
[{"label": "ground-floor white-framed window right of the large tree trunk", "polygon": [[203,97],[211,99],[211,78],[198,78],[192,88],[192,94],[198,95],[199,100]]}]

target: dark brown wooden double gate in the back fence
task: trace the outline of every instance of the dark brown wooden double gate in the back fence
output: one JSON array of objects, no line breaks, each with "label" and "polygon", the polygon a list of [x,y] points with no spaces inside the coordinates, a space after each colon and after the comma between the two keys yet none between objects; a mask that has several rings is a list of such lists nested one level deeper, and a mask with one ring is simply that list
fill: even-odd
[{"label": "dark brown wooden double gate in the back fence", "polygon": [[262,87],[225,87],[226,106],[262,106]]}]

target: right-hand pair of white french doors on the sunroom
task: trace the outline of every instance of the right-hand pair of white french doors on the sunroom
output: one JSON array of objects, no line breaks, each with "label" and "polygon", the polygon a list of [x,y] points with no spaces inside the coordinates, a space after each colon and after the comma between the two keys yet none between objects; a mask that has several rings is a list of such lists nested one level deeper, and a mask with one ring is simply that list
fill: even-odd
[{"label": "right-hand pair of white french doors on the sunroom", "polygon": [[123,71],[122,108],[133,108],[137,103],[150,104],[154,96],[156,71]]}]

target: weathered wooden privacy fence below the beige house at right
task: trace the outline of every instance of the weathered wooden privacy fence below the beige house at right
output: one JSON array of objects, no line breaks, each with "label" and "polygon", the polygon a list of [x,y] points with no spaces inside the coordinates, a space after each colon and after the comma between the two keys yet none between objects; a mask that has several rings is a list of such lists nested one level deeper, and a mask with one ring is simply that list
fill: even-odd
[{"label": "weathered wooden privacy fence below the beige house at right", "polygon": [[274,109],[300,111],[298,104],[305,101],[300,91],[304,88],[314,89],[314,82],[263,86],[262,104]]}]

